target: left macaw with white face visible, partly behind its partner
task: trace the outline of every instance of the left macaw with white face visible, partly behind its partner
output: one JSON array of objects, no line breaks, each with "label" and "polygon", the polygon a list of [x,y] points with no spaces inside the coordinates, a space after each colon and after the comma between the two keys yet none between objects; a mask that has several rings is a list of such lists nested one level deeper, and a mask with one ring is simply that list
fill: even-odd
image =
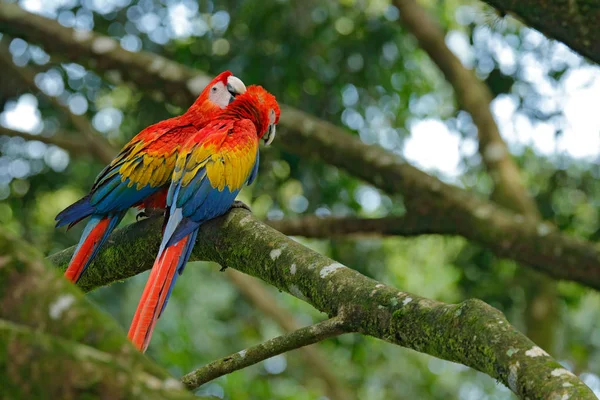
[{"label": "left macaw with white face visible, partly behind its partner", "polygon": [[90,193],[56,216],[56,227],[69,228],[91,216],[65,271],[70,281],[79,280],[129,208],[153,213],[166,207],[181,145],[245,90],[231,72],[221,73],[183,115],[151,125],[131,139],[98,175]]}]

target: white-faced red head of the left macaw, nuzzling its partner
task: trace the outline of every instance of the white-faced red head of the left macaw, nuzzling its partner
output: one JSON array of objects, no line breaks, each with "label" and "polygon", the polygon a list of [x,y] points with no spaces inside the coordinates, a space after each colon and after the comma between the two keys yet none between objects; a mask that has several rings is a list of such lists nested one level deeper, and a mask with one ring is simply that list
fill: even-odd
[{"label": "white-faced red head of the left macaw, nuzzling its partner", "polygon": [[210,119],[245,92],[246,85],[240,78],[229,71],[221,72],[202,90],[188,113]]}]

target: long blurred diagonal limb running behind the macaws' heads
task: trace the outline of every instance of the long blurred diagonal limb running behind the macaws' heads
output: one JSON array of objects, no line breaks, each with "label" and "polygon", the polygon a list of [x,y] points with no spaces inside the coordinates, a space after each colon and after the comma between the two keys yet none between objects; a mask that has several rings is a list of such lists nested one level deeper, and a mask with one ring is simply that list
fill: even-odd
[{"label": "long blurred diagonal limb running behind the macaws' heads", "polygon": [[[130,53],[116,42],[109,45],[112,39],[92,33],[82,35],[14,4],[0,3],[0,24],[2,30],[41,44],[48,51],[61,52],[73,62],[105,73],[117,69],[138,83],[140,89],[150,90],[150,94],[161,90],[170,101],[183,107],[192,104],[194,93],[203,88],[200,83],[208,81],[199,71],[151,53]],[[156,66],[160,68],[155,70]],[[521,261],[555,278],[600,288],[600,258],[595,246],[569,239],[568,246],[562,247],[564,243],[548,234],[551,229],[545,224],[523,224],[522,217],[447,185],[381,147],[365,145],[344,129],[291,107],[281,109],[283,129],[278,130],[276,143],[288,151],[327,160],[390,194],[402,194],[411,218],[432,220],[440,229],[457,225],[460,234],[489,244],[504,256],[514,257],[514,252],[527,251],[519,242],[523,231],[527,237],[538,232],[535,245],[539,248],[533,249],[534,253],[519,254]]]}]

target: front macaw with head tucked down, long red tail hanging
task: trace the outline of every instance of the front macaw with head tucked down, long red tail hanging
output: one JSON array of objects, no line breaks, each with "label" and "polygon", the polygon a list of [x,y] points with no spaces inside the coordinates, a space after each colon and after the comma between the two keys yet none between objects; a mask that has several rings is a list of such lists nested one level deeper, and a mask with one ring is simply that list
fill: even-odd
[{"label": "front macaw with head tucked down, long red tail hanging", "polygon": [[275,137],[279,105],[260,86],[249,86],[181,147],[167,195],[168,221],[158,256],[129,329],[146,351],[178,275],[189,259],[202,223],[227,212],[258,171],[259,140]]}]

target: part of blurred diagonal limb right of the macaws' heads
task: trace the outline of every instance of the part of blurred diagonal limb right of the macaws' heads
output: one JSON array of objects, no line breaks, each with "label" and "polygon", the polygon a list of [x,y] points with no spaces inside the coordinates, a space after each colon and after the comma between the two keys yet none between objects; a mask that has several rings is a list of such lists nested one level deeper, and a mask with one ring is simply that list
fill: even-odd
[{"label": "part of blurred diagonal limb right of the macaws' heads", "polygon": [[[549,224],[528,221],[491,201],[447,185],[381,147],[365,145],[327,122],[315,121],[289,108],[283,112],[290,126],[299,129],[293,132],[282,129],[278,143],[296,154],[321,157],[390,194],[402,194],[407,218],[435,227],[436,232],[455,229],[498,255],[519,259],[555,278],[600,288],[597,246],[559,235]],[[524,238],[530,241],[523,243]],[[560,263],[556,262],[556,256],[562,256]]]}]

